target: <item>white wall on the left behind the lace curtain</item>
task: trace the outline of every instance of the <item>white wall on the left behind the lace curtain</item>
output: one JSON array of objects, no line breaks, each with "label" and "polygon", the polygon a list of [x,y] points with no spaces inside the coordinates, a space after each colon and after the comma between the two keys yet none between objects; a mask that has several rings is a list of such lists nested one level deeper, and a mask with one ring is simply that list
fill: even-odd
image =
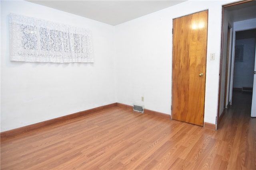
[{"label": "white wall on the left behind the lace curtain", "polygon": [[[92,31],[94,63],[9,59],[10,13]],[[26,1],[1,0],[1,132],[116,102],[114,27]]]}]

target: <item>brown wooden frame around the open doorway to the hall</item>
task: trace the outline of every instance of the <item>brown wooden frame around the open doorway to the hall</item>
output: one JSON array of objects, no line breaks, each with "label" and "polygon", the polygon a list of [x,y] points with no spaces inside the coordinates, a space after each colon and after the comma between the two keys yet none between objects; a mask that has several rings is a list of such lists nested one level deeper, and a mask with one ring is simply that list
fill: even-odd
[{"label": "brown wooden frame around the open doorway to the hall", "polygon": [[[218,129],[218,127],[220,125],[220,120],[222,118],[222,117],[219,117],[219,116],[220,116],[220,90],[221,90],[221,83],[222,83],[221,82],[221,78],[222,78],[221,73],[222,73],[223,40],[224,40],[224,9],[225,9],[225,7],[234,6],[234,5],[238,5],[238,4],[243,4],[243,3],[246,3],[246,2],[250,2],[250,1],[252,1],[252,0],[243,0],[243,1],[234,2],[234,3],[230,3],[230,4],[226,4],[226,5],[222,6],[222,33],[221,33],[221,49],[220,49],[220,72],[219,72],[220,76],[219,76],[219,93],[218,93],[218,112],[217,112],[217,117],[216,117],[216,127],[215,127],[215,130]],[[234,54],[232,54],[232,55],[234,56]]]}]

